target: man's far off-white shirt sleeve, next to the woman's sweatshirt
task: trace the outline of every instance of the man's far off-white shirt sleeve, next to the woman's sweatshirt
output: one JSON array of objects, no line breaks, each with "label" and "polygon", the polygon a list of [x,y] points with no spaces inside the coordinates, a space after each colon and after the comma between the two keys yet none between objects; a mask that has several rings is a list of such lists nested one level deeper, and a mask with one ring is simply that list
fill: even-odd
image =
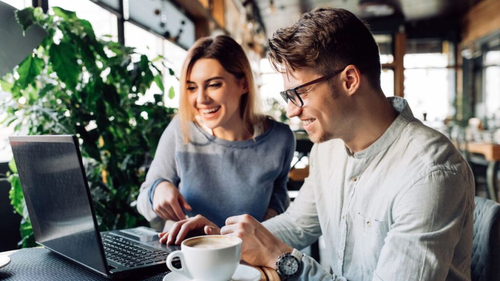
[{"label": "man's far off-white shirt sleeve, next to the woman's sweatshirt", "polygon": [[[314,150],[314,147],[313,147]],[[263,226],[283,243],[303,249],[321,235],[313,185],[313,152],[309,161],[309,177],[298,192],[297,198],[283,214],[263,222]]]}]

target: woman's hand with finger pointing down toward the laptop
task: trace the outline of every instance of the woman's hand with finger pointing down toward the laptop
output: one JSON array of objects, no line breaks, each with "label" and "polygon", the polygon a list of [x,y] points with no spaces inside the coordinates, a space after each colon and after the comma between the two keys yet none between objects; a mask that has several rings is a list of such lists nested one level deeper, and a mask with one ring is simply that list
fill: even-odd
[{"label": "woman's hand with finger pointing down toward the laptop", "polygon": [[186,215],[181,206],[185,210],[192,210],[173,184],[163,181],[156,186],[153,194],[153,211],[156,215],[163,220],[185,220]]}]

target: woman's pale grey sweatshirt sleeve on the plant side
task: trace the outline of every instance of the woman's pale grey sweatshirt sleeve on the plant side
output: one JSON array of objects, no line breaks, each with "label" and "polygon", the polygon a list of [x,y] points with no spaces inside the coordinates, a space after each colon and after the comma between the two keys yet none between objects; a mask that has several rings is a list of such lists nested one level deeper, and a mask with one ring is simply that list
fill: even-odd
[{"label": "woman's pale grey sweatshirt sleeve on the plant side", "polygon": [[156,185],[161,181],[168,181],[178,186],[180,182],[175,161],[176,139],[179,133],[179,120],[174,117],[161,134],[153,161],[146,174],[146,180],[140,186],[137,211],[149,222],[158,217],[151,205]]}]

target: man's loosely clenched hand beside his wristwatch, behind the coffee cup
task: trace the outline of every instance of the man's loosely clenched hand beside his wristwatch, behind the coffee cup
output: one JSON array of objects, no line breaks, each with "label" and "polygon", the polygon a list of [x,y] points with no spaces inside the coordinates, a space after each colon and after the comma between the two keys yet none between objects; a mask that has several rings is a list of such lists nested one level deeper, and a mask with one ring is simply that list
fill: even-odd
[{"label": "man's loosely clenched hand beside his wristwatch, behind the coffee cup", "polygon": [[228,218],[220,234],[240,238],[241,259],[253,266],[276,269],[278,257],[293,250],[250,215]]}]

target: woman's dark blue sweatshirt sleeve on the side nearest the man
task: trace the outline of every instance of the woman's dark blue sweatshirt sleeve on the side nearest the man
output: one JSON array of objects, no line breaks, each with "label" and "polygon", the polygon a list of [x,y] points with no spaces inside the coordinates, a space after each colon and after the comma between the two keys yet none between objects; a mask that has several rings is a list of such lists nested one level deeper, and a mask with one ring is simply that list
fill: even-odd
[{"label": "woman's dark blue sweatshirt sleeve on the side nearest the man", "polygon": [[290,172],[290,164],[295,152],[295,135],[290,129],[287,129],[284,143],[286,147],[283,155],[283,166],[278,178],[274,181],[274,187],[269,202],[269,208],[281,214],[286,210],[288,203],[288,193],[286,182],[288,181],[288,173]]}]

